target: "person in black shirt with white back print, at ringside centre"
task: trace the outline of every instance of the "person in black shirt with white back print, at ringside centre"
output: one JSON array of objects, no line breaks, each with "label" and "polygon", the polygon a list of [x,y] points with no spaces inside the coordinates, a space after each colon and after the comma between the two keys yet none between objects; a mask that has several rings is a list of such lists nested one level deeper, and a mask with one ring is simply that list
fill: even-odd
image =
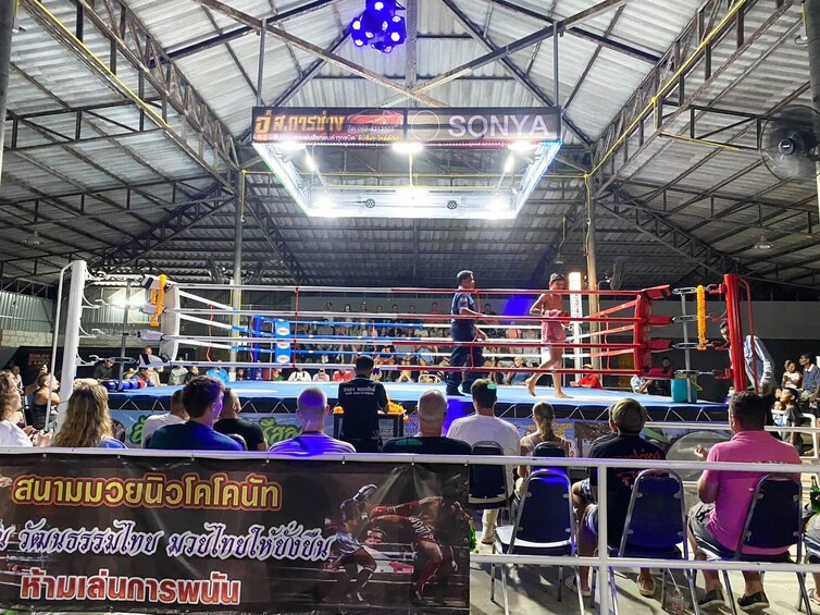
[{"label": "person in black shirt with white back print, at ringside centre", "polygon": [[387,409],[387,392],[370,378],[374,365],[371,357],[357,357],[356,378],[339,382],[338,405],[345,410],[339,439],[352,444],[357,453],[382,451],[378,414]]}]

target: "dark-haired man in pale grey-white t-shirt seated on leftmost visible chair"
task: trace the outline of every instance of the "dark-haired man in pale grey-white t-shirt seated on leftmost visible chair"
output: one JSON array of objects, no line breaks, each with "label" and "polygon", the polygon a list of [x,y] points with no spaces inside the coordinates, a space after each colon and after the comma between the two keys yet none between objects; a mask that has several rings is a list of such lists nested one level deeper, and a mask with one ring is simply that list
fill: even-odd
[{"label": "dark-haired man in pale grey-white t-shirt seated on leftmost visible chair", "polygon": [[[496,385],[487,379],[479,379],[470,388],[475,414],[456,419],[447,430],[447,438],[461,440],[471,446],[476,442],[496,442],[505,455],[517,456],[521,452],[518,429],[506,420],[495,416],[494,408],[498,399]],[[507,494],[512,494],[512,466],[507,466]],[[481,541],[493,544],[496,533],[498,508],[484,511],[482,516]]]}]

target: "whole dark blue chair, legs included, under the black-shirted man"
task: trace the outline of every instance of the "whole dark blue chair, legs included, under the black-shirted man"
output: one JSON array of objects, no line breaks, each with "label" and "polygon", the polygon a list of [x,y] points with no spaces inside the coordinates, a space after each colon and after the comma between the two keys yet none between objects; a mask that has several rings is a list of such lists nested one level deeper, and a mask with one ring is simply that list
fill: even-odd
[{"label": "whole dark blue chair, legs included, under the black-shirted man", "polygon": [[[683,554],[678,544],[683,544]],[[661,475],[657,470],[643,470],[632,485],[630,505],[626,509],[626,520],[620,542],[609,544],[610,557],[634,557],[653,559],[688,559],[688,543],[686,541],[686,507],[683,500],[683,482],[675,472]],[[667,574],[663,569],[661,579],[660,603],[666,603]],[[697,593],[695,592],[695,576],[692,570],[685,570],[686,581],[692,594],[692,604],[699,615]],[[593,568],[593,595],[597,569]],[[616,586],[614,568],[609,568],[609,589],[612,594],[614,612],[618,613],[618,590]]]}]

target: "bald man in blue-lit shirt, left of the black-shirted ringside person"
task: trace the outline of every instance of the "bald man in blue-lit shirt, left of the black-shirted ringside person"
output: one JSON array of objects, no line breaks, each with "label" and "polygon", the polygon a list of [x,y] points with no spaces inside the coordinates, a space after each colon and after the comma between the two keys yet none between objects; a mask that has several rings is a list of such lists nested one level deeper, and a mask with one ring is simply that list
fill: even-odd
[{"label": "bald man in blue-lit shirt, left of the black-shirted ringside person", "polygon": [[352,444],[325,434],[324,419],[330,414],[331,406],[324,392],[315,386],[305,389],[296,399],[296,416],[302,422],[301,433],[277,442],[269,452],[287,455],[356,453]]}]

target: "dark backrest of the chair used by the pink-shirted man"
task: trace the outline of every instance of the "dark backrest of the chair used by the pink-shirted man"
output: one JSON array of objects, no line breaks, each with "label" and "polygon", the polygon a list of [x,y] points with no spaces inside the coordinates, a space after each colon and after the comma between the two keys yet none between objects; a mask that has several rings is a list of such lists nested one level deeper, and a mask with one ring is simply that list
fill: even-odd
[{"label": "dark backrest of the chair used by the pink-shirted man", "polygon": [[780,549],[797,544],[798,557],[803,536],[800,483],[790,475],[760,478],[751,497],[743,534],[735,552],[740,558],[746,546]]}]

